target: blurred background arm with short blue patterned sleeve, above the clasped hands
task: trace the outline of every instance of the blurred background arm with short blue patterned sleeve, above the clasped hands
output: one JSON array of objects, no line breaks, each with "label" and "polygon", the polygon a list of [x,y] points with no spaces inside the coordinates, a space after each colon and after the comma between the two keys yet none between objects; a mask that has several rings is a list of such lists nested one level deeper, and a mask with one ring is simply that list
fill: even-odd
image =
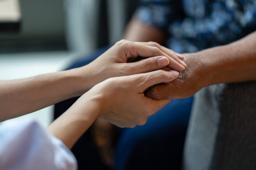
[{"label": "blurred background arm with short blue patterned sleeve, above the clasped hands", "polygon": [[131,21],[126,26],[124,39],[133,42],[157,42],[161,45],[168,38],[169,24],[183,19],[182,1],[139,0]]}]

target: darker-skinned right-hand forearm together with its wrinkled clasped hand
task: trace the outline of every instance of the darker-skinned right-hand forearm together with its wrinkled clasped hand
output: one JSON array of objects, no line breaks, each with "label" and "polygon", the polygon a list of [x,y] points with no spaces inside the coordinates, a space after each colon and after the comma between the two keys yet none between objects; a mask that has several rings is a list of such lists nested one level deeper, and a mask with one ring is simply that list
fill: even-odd
[{"label": "darker-skinned right-hand forearm together with its wrinkled clasped hand", "polygon": [[256,80],[256,32],[223,46],[184,54],[186,70],[147,92],[153,99],[180,99],[217,84]]}]

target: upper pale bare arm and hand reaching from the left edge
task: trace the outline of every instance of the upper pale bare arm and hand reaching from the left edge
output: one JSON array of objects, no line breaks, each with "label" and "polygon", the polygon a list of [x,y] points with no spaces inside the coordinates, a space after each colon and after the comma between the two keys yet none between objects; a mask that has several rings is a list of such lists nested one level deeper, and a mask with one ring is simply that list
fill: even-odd
[{"label": "upper pale bare arm and hand reaching from the left edge", "polygon": [[[128,59],[137,56],[149,58],[127,63]],[[167,65],[182,71],[186,66],[182,58],[181,55],[161,46],[155,47],[152,43],[122,40],[84,67],[20,80],[0,81],[0,121],[81,96],[110,77],[145,73]]]}]

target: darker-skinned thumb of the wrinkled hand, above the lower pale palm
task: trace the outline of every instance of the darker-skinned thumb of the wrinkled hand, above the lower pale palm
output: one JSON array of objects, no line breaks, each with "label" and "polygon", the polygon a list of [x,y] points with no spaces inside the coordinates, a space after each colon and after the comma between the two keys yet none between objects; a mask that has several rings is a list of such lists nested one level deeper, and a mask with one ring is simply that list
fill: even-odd
[{"label": "darker-skinned thumb of the wrinkled hand, above the lower pale palm", "polygon": [[155,100],[172,99],[172,89],[170,88],[170,85],[167,83],[159,84],[157,86],[150,88],[145,93],[145,96]]}]

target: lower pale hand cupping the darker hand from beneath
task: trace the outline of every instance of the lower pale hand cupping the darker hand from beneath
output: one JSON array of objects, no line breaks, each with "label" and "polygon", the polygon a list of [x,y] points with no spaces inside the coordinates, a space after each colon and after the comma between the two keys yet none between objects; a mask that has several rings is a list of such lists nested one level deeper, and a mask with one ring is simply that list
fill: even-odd
[{"label": "lower pale hand cupping the darker hand from beneath", "polygon": [[79,100],[93,98],[99,101],[98,116],[118,127],[144,125],[149,116],[170,102],[148,98],[144,91],[155,84],[173,81],[178,75],[177,71],[157,70],[110,78],[94,86]]}]

